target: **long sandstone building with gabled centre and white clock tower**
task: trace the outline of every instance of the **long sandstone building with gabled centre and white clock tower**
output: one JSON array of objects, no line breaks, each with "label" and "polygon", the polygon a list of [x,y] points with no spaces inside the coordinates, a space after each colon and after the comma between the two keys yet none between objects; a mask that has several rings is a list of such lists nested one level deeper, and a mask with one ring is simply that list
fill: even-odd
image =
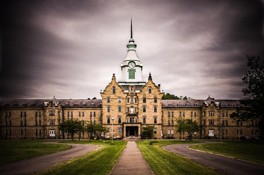
[{"label": "long sandstone building with gabled centre and white clock tower", "polygon": [[[122,79],[115,74],[104,91],[102,100],[0,100],[1,139],[60,139],[70,138],[59,131],[60,123],[69,118],[101,123],[120,138],[146,138],[143,127],[154,125],[152,138],[179,138],[175,120],[178,117],[193,119],[200,131],[193,138],[238,139],[241,136],[258,136],[258,121],[236,122],[229,114],[240,106],[239,100],[162,100],[160,84],[152,81],[151,74],[142,80],[143,64],[136,55],[136,44],[128,41],[127,56],[121,64]],[[85,132],[81,138],[88,138]],[[94,133],[101,135],[101,133]],[[110,135],[110,133],[107,133]],[[184,139],[188,134],[183,133]],[[75,136],[78,138],[78,135]]]}]

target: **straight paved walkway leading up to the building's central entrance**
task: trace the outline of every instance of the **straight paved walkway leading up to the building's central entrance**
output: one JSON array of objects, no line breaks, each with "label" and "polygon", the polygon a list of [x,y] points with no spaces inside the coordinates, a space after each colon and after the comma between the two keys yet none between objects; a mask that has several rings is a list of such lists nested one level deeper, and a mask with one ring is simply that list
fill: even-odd
[{"label": "straight paved walkway leading up to the building's central entrance", "polygon": [[110,175],[154,175],[136,142],[128,142]]}]

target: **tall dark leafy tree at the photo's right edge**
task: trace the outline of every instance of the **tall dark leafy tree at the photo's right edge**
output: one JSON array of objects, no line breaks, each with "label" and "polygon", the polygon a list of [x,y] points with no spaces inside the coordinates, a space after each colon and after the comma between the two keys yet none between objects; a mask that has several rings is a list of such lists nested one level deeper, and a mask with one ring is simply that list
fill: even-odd
[{"label": "tall dark leafy tree at the photo's right edge", "polygon": [[241,106],[236,112],[230,114],[230,118],[238,122],[248,122],[259,120],[259,127],[264,131],[264,62],[260,57],[248,56],[247,71],[242,78],[246,87],[242,89],[243,95],[246,96],[240,101]]}]

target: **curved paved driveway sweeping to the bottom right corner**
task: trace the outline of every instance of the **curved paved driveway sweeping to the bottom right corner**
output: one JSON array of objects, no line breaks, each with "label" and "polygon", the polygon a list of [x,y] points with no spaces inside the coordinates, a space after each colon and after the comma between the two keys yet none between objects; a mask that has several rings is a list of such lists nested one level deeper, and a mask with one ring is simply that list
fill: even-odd
[{"label": "curved paved driveway sweeping to the bottom right corner", "polygon": [[[209,142],[205,143],[219,143],[219,142]],[[254,164],[242,160],[232,159],[216,154],[205,153],[202,151],[192,150],[187,148],[188,145],[196,145],[197,143],[190,144],[177,144],[177,145],[165,145],[163,149],[181,155],[188,158],[194,162],[204,165],[219,171],[224,174],[232,175],[257,175],[264,174],[264,166],[259,164]],[[204,144],[204,143],[198,143]],[[250,149],[250,148],[249,148]]]}]

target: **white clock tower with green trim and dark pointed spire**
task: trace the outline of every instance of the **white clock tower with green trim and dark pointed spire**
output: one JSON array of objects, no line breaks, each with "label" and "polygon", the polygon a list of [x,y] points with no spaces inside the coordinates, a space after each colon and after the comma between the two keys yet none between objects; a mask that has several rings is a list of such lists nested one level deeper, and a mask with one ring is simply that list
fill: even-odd
[{"label": "white clock tower with green trim and dark pointed spire", "polygon": [[142,81],[142,67],[143,64],[140,63],[136,55],[136,47],[134,44],[134,39],[132,36],[132,19],[131,19],[131,37],[126,45],[128,48],[126,58],[121,64],[122,70],[122,81],[118,83],[120,85],[144,85],[146,82]]}]

